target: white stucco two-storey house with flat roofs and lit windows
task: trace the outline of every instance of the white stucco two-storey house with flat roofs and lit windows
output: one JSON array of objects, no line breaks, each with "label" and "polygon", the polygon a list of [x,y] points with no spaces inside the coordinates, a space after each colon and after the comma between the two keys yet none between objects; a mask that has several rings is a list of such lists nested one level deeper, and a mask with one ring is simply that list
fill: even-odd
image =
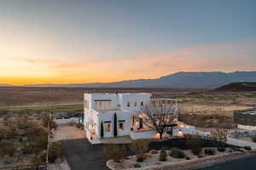
[{"label": "white stucco two-storey house with flat roofs and lit windows", "polygon": [[[151,99],[151,94],[146,93],[84,94],[84,129],[87,139],[93,144],[101,143],[102,130],[103,139],[113,138],[114,115],[117,117],[117,137],[155,138],[156,131],[143,124],[143,116],[134,116],[142,111],[144,105],[152,104],[170,104],[177,109],[177,99]],[[195,127],[179,122],[173,135],[181,133],[195,133]]]}]

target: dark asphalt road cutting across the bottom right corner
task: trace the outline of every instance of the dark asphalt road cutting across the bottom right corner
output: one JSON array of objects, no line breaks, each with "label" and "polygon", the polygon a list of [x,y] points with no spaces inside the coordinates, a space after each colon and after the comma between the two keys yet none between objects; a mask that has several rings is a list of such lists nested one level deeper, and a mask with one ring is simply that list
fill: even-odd
[{"label": "dark asphalt road cutting across the bottom right corner", "polygon": [[228,161],[213,167],[198,170],[254,170],[256,169],[256,156],[243,158],[241,160]]}]

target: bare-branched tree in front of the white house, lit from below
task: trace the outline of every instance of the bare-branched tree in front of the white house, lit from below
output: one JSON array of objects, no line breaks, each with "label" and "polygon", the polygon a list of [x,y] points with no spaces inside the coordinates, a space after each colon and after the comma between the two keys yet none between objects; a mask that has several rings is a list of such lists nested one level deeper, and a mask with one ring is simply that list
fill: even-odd
[{"label": "bare-branched tree in front of the white house, lit from below", "polygon": [[143,124],[160,133],[160,139],[168,127],[173,127],[176,118],[176,105],[145,105],[143,108]]}]

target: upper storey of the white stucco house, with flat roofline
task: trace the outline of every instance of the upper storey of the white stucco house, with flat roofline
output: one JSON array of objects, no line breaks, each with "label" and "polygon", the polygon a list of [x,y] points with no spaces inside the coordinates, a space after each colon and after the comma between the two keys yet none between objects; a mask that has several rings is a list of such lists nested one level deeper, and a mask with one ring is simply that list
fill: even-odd
[{"label": "upper storey of the white stucco house, with flat roofline", "polygon": [[84,94],[84,109],[96,111],[140,110],[151,94]]}]

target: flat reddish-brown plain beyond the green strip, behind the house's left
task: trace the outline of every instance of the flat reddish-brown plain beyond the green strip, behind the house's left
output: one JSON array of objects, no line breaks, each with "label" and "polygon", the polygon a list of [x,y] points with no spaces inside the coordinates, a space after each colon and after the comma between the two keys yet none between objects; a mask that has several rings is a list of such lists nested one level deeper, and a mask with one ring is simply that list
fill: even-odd
[{"label": "flat reddish-brown plain beyond the green strip, behind the house's left", "polygon": [[83,104],[84,93],[139,93],[155,97],[186,94],[184,90],[157,88],[0,88],[0,107]]}]

